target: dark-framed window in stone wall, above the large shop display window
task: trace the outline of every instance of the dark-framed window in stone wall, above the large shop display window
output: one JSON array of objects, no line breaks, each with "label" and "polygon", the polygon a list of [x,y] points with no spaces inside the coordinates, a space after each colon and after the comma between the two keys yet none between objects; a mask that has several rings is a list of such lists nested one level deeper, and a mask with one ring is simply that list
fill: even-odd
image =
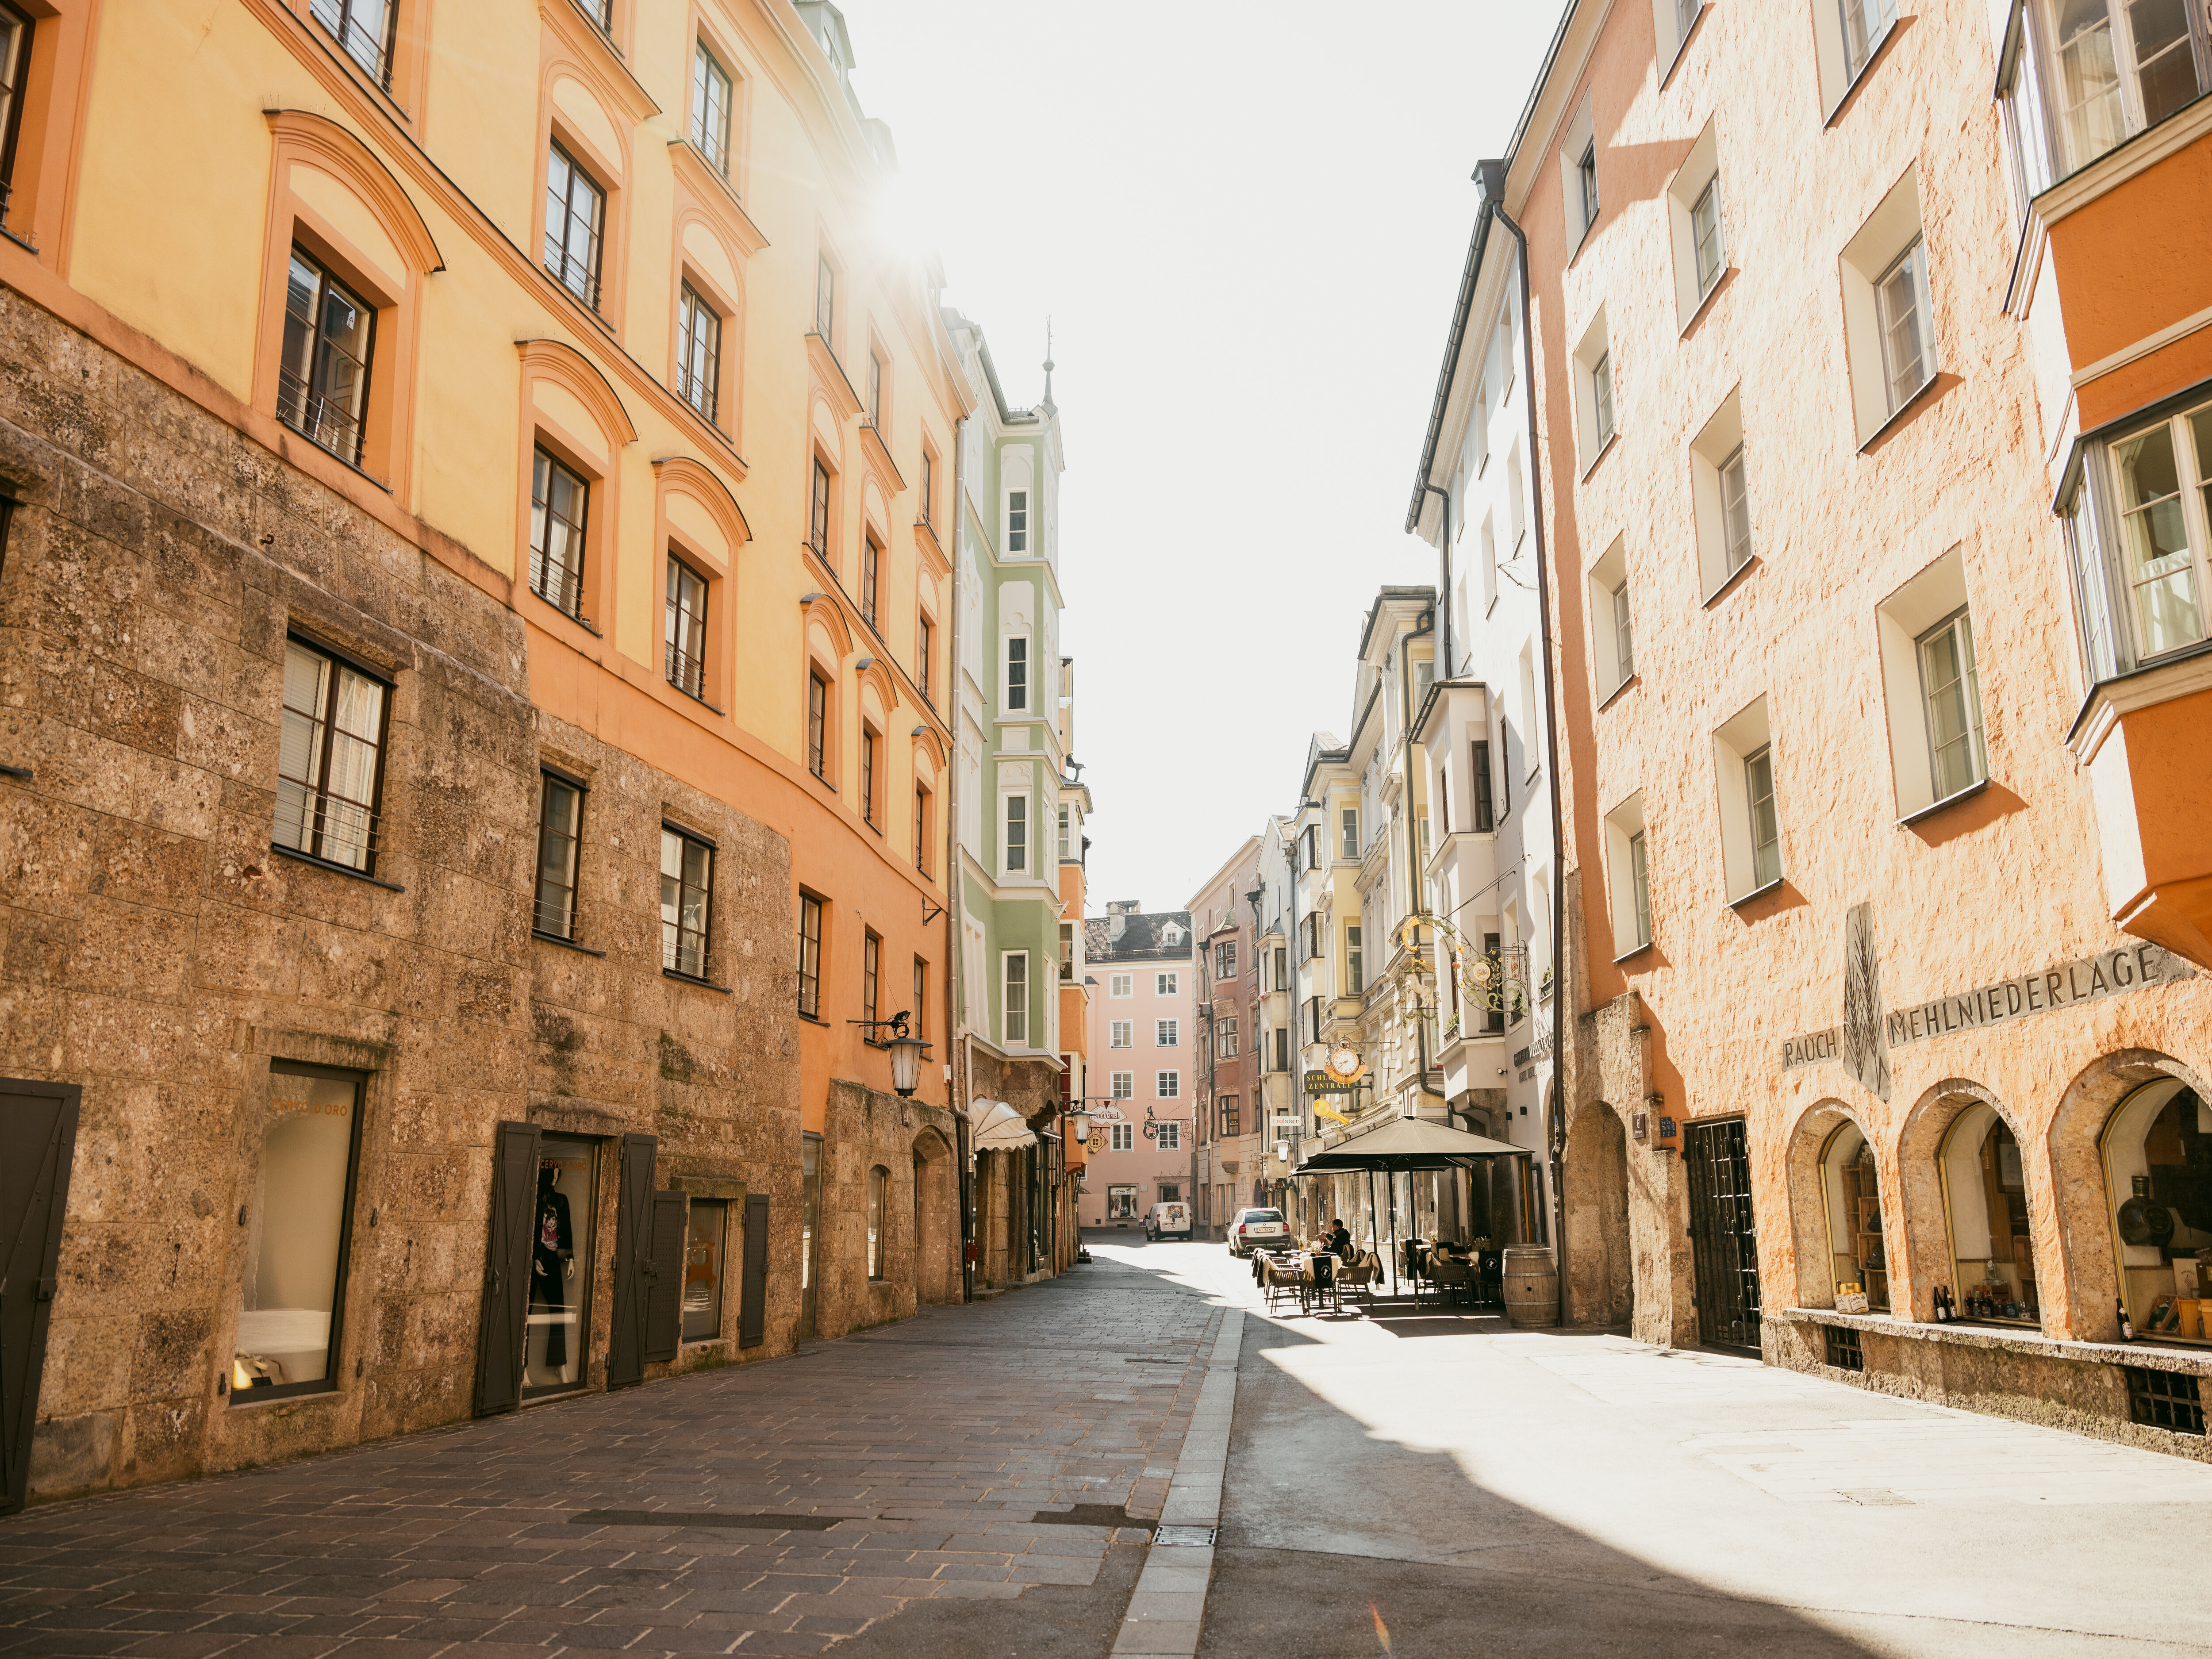
[{"label": "dark-framed window in stone wall, above the large shop display window", "polygon": [[274,845],[361,874],[376,869],[389,701],[385,681],[285,641]]}]

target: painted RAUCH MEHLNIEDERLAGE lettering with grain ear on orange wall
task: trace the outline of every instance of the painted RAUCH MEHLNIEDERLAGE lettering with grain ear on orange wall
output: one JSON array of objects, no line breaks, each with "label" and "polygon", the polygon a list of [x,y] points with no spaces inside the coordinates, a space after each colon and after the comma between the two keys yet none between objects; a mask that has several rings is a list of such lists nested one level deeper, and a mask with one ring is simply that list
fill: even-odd
[{"label": "painted RAUCH MEHLNIEDERLAGE lettering with grain ear on orange wall", "polygon": [[2194,978],[2194,969],[2163,945],[2139,942],[2057,962],[2035,973],[1975,984],[1933,1002],[1889,1009],[1882,1004],[1871,905],[1854,905],[1845,918],[1843,958],[1843,1024],[1785,1037],[1781,1068],[1798,1071],[1840,1060],[1851,1077],[1882,1099],[1889,1099],[1891,1048],[1953,1037],[1962,1031],[1984,1031],[2026,1020],[2031,1013],[2104,1002],[2126,991]]}]

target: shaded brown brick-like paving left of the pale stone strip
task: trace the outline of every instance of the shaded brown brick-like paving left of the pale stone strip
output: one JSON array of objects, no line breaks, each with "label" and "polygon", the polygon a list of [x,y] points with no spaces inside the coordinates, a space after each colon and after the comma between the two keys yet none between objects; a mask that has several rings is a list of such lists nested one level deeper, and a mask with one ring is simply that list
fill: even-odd
[{"label": "shaded brown brick-like paving left of the pale stone strip", "polygon": [[[1141,1555],[1115,1542],[1144,1540],[1113,1522],[1159,1515],[1219,1323],[1099,1263],[787,1360],[33,1509],[0,1520],[0,1652],[874,1652],[907,1608],[1026,1586],[1004,1613],[1064,1624],[1062,1586],[1084,1628],[1037,1650],[1104,1655]],[[1095,1524],[1033,1520],[1075,1504]],[[730,1524],[763,1511],[805,1522]]]}]

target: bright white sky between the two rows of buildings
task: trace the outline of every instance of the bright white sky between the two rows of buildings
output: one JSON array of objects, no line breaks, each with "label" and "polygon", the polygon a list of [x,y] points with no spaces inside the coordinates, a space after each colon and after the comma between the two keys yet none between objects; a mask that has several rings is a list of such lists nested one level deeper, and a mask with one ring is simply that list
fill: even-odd
[{"label": "bright white sky between the two rows of buildings", "polygon": [[982,323],[1066,425],[1091,911],[1177,909],[1352,723],[1475,188],[1559,0],[838,0],[854,86]]}]

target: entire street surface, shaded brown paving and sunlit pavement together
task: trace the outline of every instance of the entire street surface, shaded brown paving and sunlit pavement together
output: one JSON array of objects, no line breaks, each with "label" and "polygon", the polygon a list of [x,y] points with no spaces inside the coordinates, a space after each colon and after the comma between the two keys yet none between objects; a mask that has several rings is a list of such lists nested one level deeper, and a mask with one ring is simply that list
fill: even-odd
[{"label": "entire street surface, shaded brown paving and sunlit pavement together", "polygon": [[[0,1652],[2212,1652],[2161,1588],[2201,1464],[1091,1243],[792,1360],[15,1515]],[[1228,1360],[1219,1542],[1146,1548]]]}]

